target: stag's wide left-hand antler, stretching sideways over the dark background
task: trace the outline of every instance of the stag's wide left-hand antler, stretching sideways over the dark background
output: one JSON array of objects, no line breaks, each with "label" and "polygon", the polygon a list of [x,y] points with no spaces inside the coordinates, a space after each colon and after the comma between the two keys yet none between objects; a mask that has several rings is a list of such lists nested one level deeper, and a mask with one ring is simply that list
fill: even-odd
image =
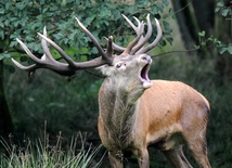
[{"label": "stag's wide left-hand antler, stretching sideways over the dark background", "polygon": [[[47,37],[47,30],[46,27],[43,28],[43,35],[38,35],[41,37],[41,47],[44,52],[41,59],[38,59],[35,56],[31,51],[26,47],[24,42],[22,42],[20,39],[16,39],[17,42],[21,44],[21,47],[24,49],[24,51],[29,55],[30,59],[33,59],[36,64],[24,66],[16,62],[14,59],[12,59],[12,62],[20,68],[25,69],[29,72],[29,74],[34,73],[38,68],[48,68],[52,69],[53,72],[70,76],[74,75],[76,70],[78,69],[86,69],[86,68],[92,68],[98,67],[104,64],[112,64],[113,62],[113,37],[108,38],[108,47],[107,50],[104,52],[98,40],[94,38],[94,36],[80,23],[80,21],[75,17],[80,28],[89,36],[89,38],[92,40],[93,44],[96,47],[99,53],[102,55],[100,57],[96,57],[94,60],[90,60],[87,62],[74,62],[54,41],[49,39]],[[49,47],[47,44],[49,42],[60,54],[61,56],[66,61],[66,63],[57,62],[52,56],[51,52],[49,51]]]}]

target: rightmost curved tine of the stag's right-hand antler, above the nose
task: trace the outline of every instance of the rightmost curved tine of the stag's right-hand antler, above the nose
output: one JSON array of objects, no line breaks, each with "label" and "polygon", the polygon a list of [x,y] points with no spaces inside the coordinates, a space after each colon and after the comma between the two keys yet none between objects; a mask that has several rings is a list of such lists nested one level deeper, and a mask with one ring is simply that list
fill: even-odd
[{"label": "rightmost curved tine of the stag's right-hand antler, above the nose", "polygon": [[156,28],[157,28],[157,36],[156,36],[155,40],[154,40],[152,43],[150,43],[149,46],[146,46],[146,47],[144,47],[143,49],[139,50],[139,51],[137,52],[137,54],[149,52],[149,51],[152,50],[155,46],[157,46],[158,41],[160,40],[162,35],[163,35],[163,33],[162,33],[162,27],[160,27],[160,24],[159,24],[158,20],[155,18],[155,23],[156,23]]}]

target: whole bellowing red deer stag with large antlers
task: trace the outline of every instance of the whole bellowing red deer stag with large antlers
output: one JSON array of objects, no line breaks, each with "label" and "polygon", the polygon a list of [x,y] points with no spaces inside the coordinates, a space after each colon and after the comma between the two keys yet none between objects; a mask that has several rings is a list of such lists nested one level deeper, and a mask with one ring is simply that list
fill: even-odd
[{"label": "whole bellowing red deer stag with large antlers", "polygon": [[[124,15],[123,15],[124,16]],[[35,72],[49,68],[61,75],[73,75],[75,70],[99,67],[105,79],[99,92],[99,134],[103,145],[108,150],[113,168],[124,167],[125,153],[137,156],[140,168],[149,168],[147,146],[154,145],[172,163],[176,168],[192,168],[185,158],[182,145],[188,144],[197,164],[210,168],[207,157],[206,127],[209,116],[209,103],[196,90],[180,81],[150,80],[149,69],[152,59],[145,54],[162,38],[157,20],[157,37],[146,44],[152,35],[150,15],[144,23],[134,17],[137,26],[124,16],[134,29],[137,37],[127,48],[107,40],[104,51],[93,35],[75,18],[81,29],[96,47],[100,57],[87,62],[74,62],[65,52],[47,37],[46,28],[41,37],[44,54],[35,56],[17,39],[25,52],[36,62],[24,66],[12,59],[20,68]],[[54,60],[47,42],[57,50],[66,63]],[[113,54],[113,51],[120,54]]]}]

